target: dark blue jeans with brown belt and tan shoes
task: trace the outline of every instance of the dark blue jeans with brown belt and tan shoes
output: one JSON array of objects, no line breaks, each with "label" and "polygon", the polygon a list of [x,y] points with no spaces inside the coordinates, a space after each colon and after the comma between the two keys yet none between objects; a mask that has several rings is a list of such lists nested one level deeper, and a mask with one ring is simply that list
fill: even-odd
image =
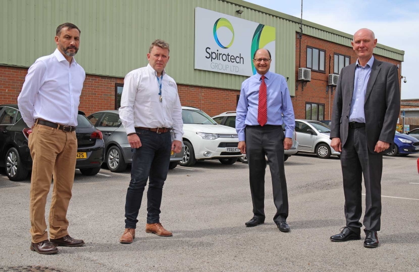
[{"label": "dark blue jeans with brown belt and tan shoes", "polygon": [[170,132],[158,134],[136,128],[141,147],[132,149],[131,181],[125,201],[125,228],[136,228],[142,194],[148,181],[147,223],[159,223],[163,185],[169,171],[172,138]]}]

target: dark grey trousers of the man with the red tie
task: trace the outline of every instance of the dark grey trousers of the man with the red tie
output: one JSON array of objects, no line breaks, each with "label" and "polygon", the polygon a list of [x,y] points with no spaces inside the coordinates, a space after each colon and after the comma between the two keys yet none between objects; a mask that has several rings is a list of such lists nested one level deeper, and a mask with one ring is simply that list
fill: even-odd
[{"label": "dark grey trousers of the man with the red tie", "polygon": [[268,157],[272,176],[276,224],[288,217],[288,193],[284,169],[284,131],[282,126],[246,126],[246,153],[249,163],[250,192],[255,217],[265,220],[265,169]]}]

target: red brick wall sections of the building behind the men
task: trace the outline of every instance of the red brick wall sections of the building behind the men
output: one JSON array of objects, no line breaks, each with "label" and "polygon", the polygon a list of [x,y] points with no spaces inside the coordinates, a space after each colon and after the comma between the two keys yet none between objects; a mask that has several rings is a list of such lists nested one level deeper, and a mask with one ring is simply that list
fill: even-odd
[{"label": "red brick wall sections of the building behind the men", "polygon": [[[333,73],[334,53],[350,56],[350,63],[356,61],[356,54],[352,48],[340,44],[328,42],[318,38],[303,35],[301,39],[301,67],[306,65],[307,46],[326,50],[326,73],[311,71],[311,82],[302,90],[302,85],[295,91],[295,97],[292,97],[294,112],[296,118],[305,118],[305,102],[325,104],[324,118],[329,119],[329,110],[332,113],[334,94],[326,94],[329,75],[329,54],[331,59],[331,73]],[[295,77],[298,74],[299,62],[299,40],[296,39],[295,51]],[[400,61],[389,59],[382,56],[375,57],[379,60],[389,61],[394,64],[401,64]],[[400,69],[399,69],[400,71]],[[400,73],[400,72],[399,72]],[[26,68],[17,68],[11,66],[0,66],[0,104],[17,103],[25,76]],[[123,78],[102,77],[86,75],[82,95],[80,98],[79,109],[86,114],[99,110],[115,108],[115,83],[123,83]],[[199,86],[178,85],[180,102],[184,106],[194,106],[202,109],[210,116],[220,114],[225,111],[235,110],[237,95],[239,91],[224,90],[217,88],[207,88]],[[329,109],[330,101],[330,109]]]}]

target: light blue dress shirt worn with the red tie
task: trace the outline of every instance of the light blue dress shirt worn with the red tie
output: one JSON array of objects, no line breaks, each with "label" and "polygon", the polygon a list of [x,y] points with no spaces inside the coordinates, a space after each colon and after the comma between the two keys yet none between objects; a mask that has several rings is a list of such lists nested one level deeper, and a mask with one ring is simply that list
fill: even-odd
[{"label": "light blue dress shirt worn with the red tie", "polygon": [[[259,87],[261,75],[251,76],[241,84],[239,103],[237,104],[236,131],[239,141],[245,141],[246,125],[259,125],[257,108],[259,104]],[[268,122],[270,125],[285,123],[285,137],[292,138],[295,127],[294,109],[292,107],[287,82],[281,75],[268,72],[265,74],[267,86]]]}]

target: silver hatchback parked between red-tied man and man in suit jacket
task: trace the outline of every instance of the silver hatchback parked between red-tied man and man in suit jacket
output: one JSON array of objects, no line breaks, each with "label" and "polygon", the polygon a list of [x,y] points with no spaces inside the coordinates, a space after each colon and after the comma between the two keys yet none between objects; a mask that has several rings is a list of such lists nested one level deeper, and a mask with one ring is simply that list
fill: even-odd
[{"label": "silver hatchback parked between red-tied man and man in suit jacket", "polygon": [[315,153],[317,157],[327,159],[331,155],[340,156],[330,143],[330,126],[313,120],[295,120],[299,153]]}]

